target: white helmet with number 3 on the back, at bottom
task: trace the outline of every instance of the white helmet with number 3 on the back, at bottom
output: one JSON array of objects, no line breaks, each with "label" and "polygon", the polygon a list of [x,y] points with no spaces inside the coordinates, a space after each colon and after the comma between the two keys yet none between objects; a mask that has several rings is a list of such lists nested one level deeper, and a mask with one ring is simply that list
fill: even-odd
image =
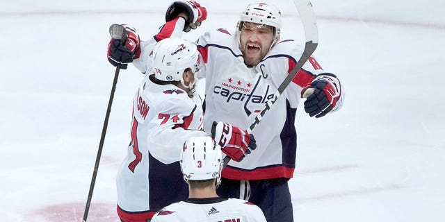
[{"label": "white helmet with number 3 on the back, at bottom", "polygon": [[191,137],[184,143],[181,153],[181,171],[184,180],[211,180],[220,182],[223,169],[221,147],[207,137]]}]

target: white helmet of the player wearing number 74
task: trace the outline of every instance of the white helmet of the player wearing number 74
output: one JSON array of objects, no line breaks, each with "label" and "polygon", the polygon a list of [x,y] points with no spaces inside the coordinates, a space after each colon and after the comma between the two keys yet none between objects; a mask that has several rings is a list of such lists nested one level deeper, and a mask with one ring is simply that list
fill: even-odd
[{"label": "white helmet of the player wearing number 74", "polygon": [[[199,54],[196,45],[187,40],[177,38],[161,40],[156,43],[153,49],[154,76],[165,82],[181,81],[184,85],[182,74],[188,68],[195,74],[198,69]],[[184,86],[191,87],[194,84]]]}]

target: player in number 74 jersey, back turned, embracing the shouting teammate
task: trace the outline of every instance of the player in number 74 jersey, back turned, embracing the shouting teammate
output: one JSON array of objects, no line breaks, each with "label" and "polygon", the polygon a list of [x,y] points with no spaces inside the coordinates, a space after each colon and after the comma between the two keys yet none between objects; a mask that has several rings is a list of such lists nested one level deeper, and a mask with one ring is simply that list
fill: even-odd
[{"label": "player in number 74 jersey, back turned, embracing the shouting teammate", "polygon": [[[194,90],[197,47],[174,38],[152,46],[150,71],[133,99],[131,143],[117,176],[117,210],[124,222],[147,222],[162,207],[187,198],[179,167],[181,146],[188,137],[209,135],[202,130],[202,101]],[[232,142],[230,152],[254,148],[254,139],[245,130],[231,130],[225,135]]]}]

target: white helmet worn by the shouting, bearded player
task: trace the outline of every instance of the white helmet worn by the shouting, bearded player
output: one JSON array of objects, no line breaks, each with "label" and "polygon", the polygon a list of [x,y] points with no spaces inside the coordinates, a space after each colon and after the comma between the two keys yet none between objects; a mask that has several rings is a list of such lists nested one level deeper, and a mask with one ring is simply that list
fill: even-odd
[{"label": "white helmet worn by the shouting, bearded player", "polygon": [[275,28],[275,37],[280,35],[282,27],[280,9],[270,3],[250,3],[241,13],[238,28],[241,28],[243,22],[272,26]]}]

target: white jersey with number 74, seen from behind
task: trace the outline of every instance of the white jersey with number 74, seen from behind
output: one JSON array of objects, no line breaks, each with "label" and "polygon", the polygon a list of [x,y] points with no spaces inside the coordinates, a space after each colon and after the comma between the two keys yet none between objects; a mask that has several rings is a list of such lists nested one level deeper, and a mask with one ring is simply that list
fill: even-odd
[{"label": "white jersey with number 74, seen from behind", "polygon": [[[143,78],[133,99],[131,144],[120,170],[117,189],[122,212],[152,213],[188,197],[179,159],[188,137],[202,131],[202,103],[175,85]],[[122,213],[123,214],[123,213]]]}]

